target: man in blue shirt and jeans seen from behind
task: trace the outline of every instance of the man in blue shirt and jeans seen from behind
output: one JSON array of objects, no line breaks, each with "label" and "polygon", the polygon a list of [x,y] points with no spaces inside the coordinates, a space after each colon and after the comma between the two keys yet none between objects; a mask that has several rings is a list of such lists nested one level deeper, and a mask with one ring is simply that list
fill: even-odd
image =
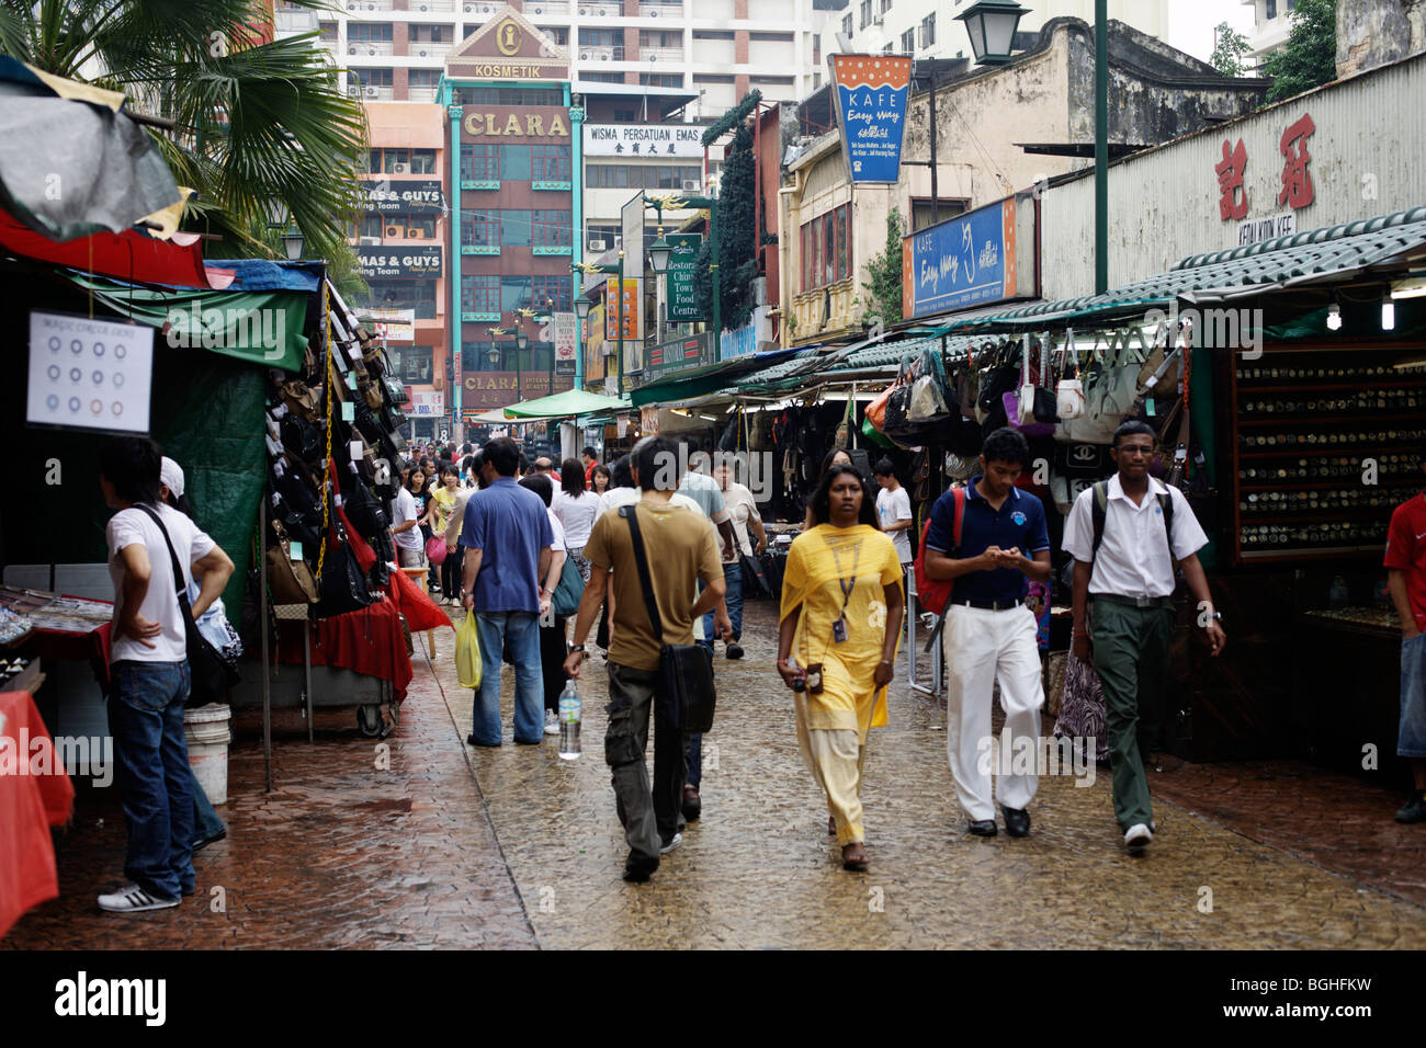
[{"label": "man in blue shirt and jeans seen from behind", "polygon": [[555,533],[539,496],[515,482],[520,449],[508,436],[485,445],[486,486],[471,495],[461,522],[465,548],[466,609],[475,607],[481,635],[481,687],[475,693],[472,746],[501,744],[501,663],[509,646],[515,663],[515,741],[545,737],[545,680],[540,672],[539,616],[549,607],[542,590]]}]

